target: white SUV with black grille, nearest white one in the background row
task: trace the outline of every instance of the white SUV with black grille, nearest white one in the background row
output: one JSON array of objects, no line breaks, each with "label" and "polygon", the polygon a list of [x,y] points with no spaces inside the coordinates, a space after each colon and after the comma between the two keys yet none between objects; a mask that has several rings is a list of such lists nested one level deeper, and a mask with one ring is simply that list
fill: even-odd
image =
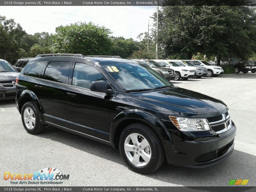
[{"label": "white SUV with black grille, nearest white one in the background row", "polygon": [[195,70],[192,67],[184,67],[179,65],[178,63],[171,60],[160,60],[155,59],[153,61],[158,62],[163,67],[172,68],[176,73],[175,81],[179,81],[179,79],[189,79],[195,76]]}]

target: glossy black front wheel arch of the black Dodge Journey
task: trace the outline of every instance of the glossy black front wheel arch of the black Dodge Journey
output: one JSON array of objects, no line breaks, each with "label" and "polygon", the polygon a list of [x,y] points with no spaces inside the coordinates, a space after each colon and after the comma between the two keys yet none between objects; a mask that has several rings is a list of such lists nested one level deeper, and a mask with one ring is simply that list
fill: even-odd
[{"label": "glossy black front wheel arch of the black Dodge Journey", "polygon": [[117,129],[124,128],[119,127],[118,125],[126,120],[142,121],[156,131],[162,142],[168,141],[169,143],[172,143],[171,135],[161,120],[152,113],[138,109],[127,109],[115,116],[109,130],[109,139],[111,143],[115,143],[115,133],[118,131]]}]

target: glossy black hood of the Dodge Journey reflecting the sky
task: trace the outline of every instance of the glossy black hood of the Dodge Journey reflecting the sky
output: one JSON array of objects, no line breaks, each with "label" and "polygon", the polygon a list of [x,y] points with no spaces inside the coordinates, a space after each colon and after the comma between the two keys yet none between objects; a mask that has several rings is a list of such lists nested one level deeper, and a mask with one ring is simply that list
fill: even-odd
[{"label": "glossy black hood of the Dodge Journey reflecting the sky", "polygon": [[222,101],[201,93],[174,87],[162,91],[132,93],[132,97],[146,100],[154,105],[178,111],[187,117],[213,117],[227,111]]}]

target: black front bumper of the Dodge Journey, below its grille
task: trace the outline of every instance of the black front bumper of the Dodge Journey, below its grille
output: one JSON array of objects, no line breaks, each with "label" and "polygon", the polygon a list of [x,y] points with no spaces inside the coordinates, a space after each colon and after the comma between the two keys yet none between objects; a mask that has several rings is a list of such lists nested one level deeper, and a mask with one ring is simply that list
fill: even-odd
[{"label": "black front bumper of the Dodge Journey, below its grille", "polygon": [[[186,136],[186,140],[173,137],[173,145],[166,149],[166,159],[171,165],[205,168],[224,161],[234,150],[234,138],[236,127],[232,123],[231,128],[224,133],[206,136],[202,141],[197,137]],[[202,137],[200,137],[202,138]],[[208,138],[208,139],[206,139]]]}]

